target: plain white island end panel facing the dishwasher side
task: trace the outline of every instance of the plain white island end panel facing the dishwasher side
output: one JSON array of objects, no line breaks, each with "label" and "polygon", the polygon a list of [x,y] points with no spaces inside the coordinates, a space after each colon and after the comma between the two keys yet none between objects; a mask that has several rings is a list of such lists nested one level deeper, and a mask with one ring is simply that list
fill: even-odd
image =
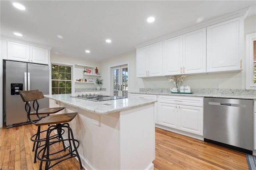
[{"label": "plain white island end panel facing the dishwasher side", "polygon": [[154,169],[154,104],[120,112],[120,169]]}]

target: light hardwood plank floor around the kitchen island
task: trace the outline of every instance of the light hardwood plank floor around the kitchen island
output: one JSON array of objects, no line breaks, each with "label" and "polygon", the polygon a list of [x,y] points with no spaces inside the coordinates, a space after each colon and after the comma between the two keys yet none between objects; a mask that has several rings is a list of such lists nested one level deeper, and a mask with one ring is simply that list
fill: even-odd
[{"label": "light hardwood plank floor around the kitchen island", "polygon": [[[43,126],[42,129],[47,129]],[[0,128],[0,166],[15,170],[38,170],[39,163],[33,163],[33,143],[30,136],[36,133],[32,124]],[[53,146],[51,150],[61,148]],[[154,170],[170,169],[238,169],[247,170],[246,154],[225,149],[194,138],[178,135],[156,128],[156,159]],[[44,168],[44,166],[43,166]],[[79,170],[79,163],[71,158],[52,168],[54,170]]]}]

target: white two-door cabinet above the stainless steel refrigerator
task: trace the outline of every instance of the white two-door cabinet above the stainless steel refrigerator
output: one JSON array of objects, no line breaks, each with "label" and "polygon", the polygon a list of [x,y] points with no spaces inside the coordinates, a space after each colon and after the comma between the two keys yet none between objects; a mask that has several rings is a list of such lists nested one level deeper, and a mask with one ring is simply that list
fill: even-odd
[{"label": "white two-door cabinet above the stainless steel refrigerator", "polygon": [[7,59],[30,63],[49,64],[49,49],[8,41]]}]

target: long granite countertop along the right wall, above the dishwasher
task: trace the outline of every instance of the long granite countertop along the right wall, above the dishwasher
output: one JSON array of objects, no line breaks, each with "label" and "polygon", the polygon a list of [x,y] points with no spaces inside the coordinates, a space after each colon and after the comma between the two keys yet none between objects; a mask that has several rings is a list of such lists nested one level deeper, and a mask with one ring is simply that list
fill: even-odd
[{"label": "long granite countertop along the right wall, above the dishwasher", "polygon": [[154,94],[154,95],[169,95],[169,96],[193,96],[193,97],[212,97],[212,98],[234,98],[234,99],[253,99],[256,100],[256,95],[250,94],[174,94],[174,93],[155,93],[155,92],[130,92],[134,94]]}]

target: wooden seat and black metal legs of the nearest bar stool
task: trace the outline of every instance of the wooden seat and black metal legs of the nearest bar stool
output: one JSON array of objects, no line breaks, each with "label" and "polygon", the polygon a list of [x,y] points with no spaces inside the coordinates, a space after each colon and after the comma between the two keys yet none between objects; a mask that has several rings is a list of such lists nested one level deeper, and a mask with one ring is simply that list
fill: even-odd
[{"label": "wooden seat and black metal legs of the nearest bar stool", "polygon": [[[73,158],[77,157],[79,164],[80,164],[80,169],[83,168],[80,156],[78,154],[78,147],[80,145],[79,141],[74,139],[74,135],[72,132],[72,129],[70,128],[68,122],[72,121],[76,117],[77,113],[65,113],[65,114],[58,114],[58,115],[50,115],[45,117],[44,119],[41,119],[36,123],[36,126],[42,126],[42,125],[51,125],[47,129],[46,133],[46,143],[44,145],[44,148],[38,151],[37,158],[38,160],[41,160],[40,163],[40,170],[42,169],[42,161],[45,161],[45,170],[48,170],[55,166],[56,164]],[[55,125],[56,124],[56,125]],[[59,141],[53,141],[50,142],[50,135],[54,130],[57,130],[59,132],[59,129],[66,128],[68,131],[68,139],[61,139],[61,141],[68,141],[68,146],[62,150],[59,150],[57,152],[50,152],[50,145],[53,145]],[[68,149],[68,153],[62,155],[62,156],[55,156],[56,154]],[[40,157],[40,153],[42,152],[42,156]],[[51,158],[50,158],[51,156]],[[53,157],[53,158],[52,158]],[[56,160],[56,163],[50,165],[50,162]],[[58,161],[57,161],[58,160]]]}]

